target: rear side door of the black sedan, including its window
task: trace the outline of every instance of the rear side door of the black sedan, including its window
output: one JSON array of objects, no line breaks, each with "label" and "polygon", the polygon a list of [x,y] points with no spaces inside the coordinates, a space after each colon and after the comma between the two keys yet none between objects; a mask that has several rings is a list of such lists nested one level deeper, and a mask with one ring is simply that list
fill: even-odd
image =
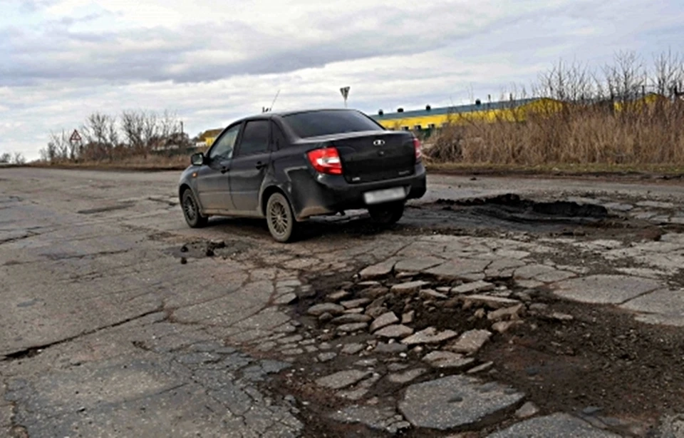
[{"label": "rear side door of the black sedan, including its window", "polygon": [[271,161],[269,138],[268,119],[245,123],[229,171],[232,202],[241,213],[259,214],[259,190]]}]

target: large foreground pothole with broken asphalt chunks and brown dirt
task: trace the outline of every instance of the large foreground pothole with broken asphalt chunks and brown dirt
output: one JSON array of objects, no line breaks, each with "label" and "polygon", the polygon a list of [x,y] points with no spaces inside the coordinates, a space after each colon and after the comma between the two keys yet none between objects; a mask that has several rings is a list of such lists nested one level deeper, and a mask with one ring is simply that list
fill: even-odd
[{"label": "large foreground pothole with broken asphalt chunks and brown dirt", "polygon": [[[430,418],[412,417],[413,427],[400,429],[402,436],[486,436],[519,421],[514,411],[523,402],[540,414],[568,412],[641,436],[635,431],[675,414],[683,396],[684,358],[675,354],[684,347],[682,333],[663,335],[662,327],[639,324],[613,307],[559,300],[546,287],[521,287],[512,275],[445,280],[392,272],[336,280],[314,287],[315,296],[300,297],[296,334],[254,346],[261,355],[290,355],[293,370],[271,389],[295,394],[305,421],[311,418],[307,427],[328,437],[395,433],[392,428],[404,421],[398,406],[406,406],[407,390],[449,376],[465,379],[454,384],[470,388],[468,397],[488,382],[504,385],[497,389],[502,397],[524,397],[467,421],[454,416],[453,427],[435,420],[439,429],[426,428]],[[415,390],[426,406],[430,387]],[[376,411],[388,429],[378,429],[385,424],[378,419],[363,423]]]}]

